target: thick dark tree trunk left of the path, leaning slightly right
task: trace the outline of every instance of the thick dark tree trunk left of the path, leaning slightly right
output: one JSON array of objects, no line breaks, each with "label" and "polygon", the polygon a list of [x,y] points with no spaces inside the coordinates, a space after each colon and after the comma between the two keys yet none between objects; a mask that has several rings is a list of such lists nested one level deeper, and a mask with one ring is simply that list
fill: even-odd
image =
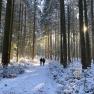
[{"label": "thick dark tree trunk left of the path, leaning slightly right", "polygon": [[2,65],[3,67],[9,64],[9,44],[10,44],[10,30],[12,19],[12,0],[7,0],[4,39],[3,39],[3,51],[2,51]]}]

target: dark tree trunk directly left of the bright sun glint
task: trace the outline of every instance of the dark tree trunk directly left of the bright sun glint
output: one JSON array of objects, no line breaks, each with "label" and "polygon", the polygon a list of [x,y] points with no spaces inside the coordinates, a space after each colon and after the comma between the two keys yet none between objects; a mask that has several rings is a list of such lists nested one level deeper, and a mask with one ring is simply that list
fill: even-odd
[{"label": "dark tree trunk directly left of the bright sun glint", "polygon": [[82,68],[86,69],[86,52],[85,52],[85,38],[83,31],[83,0],[79,0],[79,29],[80,29],[80,45],[81,45],[81,63]]}]

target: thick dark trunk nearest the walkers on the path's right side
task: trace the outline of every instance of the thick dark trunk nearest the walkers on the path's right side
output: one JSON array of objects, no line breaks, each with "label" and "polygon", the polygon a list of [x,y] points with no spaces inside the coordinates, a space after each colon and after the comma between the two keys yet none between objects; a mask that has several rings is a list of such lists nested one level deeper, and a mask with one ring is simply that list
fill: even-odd
[{"label": "thick dark trunk nearest the walkers on the path's right side", "polygon": [[[60,0],[60,26],[61,26],[61,58],[60,62],[64,68],[67,67],[67,40],[65,26],[65,7],[64,0]],[[63,39],[62,39],[63,38]]]}]

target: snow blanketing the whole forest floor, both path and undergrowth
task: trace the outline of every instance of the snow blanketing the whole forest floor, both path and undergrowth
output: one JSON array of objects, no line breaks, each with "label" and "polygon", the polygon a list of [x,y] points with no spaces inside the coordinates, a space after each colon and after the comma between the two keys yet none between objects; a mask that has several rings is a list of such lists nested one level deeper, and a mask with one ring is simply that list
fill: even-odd
[{"label": "snow blanketing the whole forest floor, both path and undergrowth", "polygon": [[[22,74],[19,68],[24,70]],[[93,63],[82,70],[80,60],[64,69],[55,60],[46,60],[46,65],[40,66],[39,58],[21,59],[10,64],[8,71],[16,77],[0,79],[0,94],[94,94]]]}]

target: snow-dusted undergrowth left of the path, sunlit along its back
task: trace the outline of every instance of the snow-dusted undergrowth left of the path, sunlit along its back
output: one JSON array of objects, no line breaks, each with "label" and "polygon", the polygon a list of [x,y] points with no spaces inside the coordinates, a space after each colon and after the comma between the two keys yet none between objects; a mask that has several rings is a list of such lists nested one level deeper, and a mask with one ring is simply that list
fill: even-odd
[{"label": "snow-dusted undergrowth left of the path, sunlit along its back", "polygon": [[0,77],[7,77],[7,78],[14,78],[18,74],[23,74],[25,72],[25,69],[31,68],[32,63],[30,60],[27,59],[21,59],[19,62],[14,62],[14,60],[11,60],[11,63],[9,63],[7,69],[3,69],[2,66],[0,66]]}]

